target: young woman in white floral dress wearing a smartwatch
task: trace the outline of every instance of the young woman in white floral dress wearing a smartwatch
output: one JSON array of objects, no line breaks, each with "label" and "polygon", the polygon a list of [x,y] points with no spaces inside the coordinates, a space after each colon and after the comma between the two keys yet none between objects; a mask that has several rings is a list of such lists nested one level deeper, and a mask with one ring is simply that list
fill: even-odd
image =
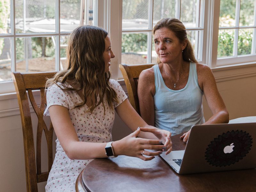
[{"label": "young woman in white floral dress wearing a smartwatch", "polygon": [[[51,116],[58,138],[46,191],[75,191],[78,174],[94,158],[127,155],[147,161],[172,150],[171,133],[145,123],[120,84],[110,79],[114,57],[104,29],[81,26],[70,35],[67,70],[46,84],[45,115]],[[114,109],[133,133],[111,142]]]}]

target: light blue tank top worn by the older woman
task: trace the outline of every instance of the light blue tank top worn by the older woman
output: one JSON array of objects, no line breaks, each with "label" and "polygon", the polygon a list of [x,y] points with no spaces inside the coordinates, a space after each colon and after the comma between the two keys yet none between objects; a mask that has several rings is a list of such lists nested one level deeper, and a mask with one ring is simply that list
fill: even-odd
[{"label": "light blue tank top worn by the older woman", "polygon": [[203,92],[196,73],[196,64],[190,62],[188,83],[183,89],[169,89],[158,65],[154,65],[156,93],[155,126],[170,131],[172,135],[187,132],[192,125],[203,124]]}]

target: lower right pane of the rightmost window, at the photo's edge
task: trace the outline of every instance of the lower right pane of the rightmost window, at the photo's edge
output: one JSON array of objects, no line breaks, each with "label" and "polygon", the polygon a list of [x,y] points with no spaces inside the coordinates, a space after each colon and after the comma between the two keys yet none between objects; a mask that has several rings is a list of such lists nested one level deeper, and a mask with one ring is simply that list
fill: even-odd
[{"label": "lower right pane of the rightmost window, at the photo's edge", "polygon": [[252,51],[252,29],[239,29],[238,32],[238,45],[237,45],[237,54],[238,55],[247,55],[251,54]]}]

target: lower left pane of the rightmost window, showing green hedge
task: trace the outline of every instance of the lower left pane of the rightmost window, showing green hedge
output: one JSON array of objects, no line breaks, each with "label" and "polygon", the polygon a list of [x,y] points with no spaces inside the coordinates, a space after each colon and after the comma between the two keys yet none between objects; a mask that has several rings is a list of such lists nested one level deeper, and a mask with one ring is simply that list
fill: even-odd
[{"label": "lower left pane of the rightmost window, showing green hedge", "polygon": [[235,29],[219,29],[218,57],[233,56]]}]

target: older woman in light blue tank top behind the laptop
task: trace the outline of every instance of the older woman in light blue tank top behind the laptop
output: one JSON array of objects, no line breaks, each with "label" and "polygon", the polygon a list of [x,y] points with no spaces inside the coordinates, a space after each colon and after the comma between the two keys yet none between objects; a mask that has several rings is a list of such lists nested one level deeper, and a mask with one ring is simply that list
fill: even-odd
[{"label": "older woman in light blue tank top behind the laptop", "polygon": [[[195,124],[228,123],[229,116],[207,65],[199,64],[183,23],[164,18],[153,29],[158,65],[141,72],[138,97],[141,117],[152,126],[188,140]],[[205,122],[203,95],[212,111]]]}]

